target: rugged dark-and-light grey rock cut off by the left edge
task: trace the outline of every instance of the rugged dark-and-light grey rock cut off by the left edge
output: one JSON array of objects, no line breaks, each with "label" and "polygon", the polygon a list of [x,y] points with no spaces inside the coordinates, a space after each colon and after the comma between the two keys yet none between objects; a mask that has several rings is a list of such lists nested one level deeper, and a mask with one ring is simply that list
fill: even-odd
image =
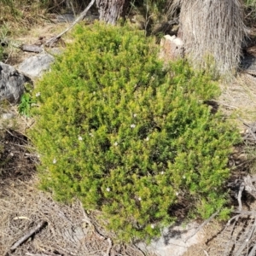
[{"label": "rugged dark-and-light grey rock cut off by the left edge", "polygon": [[19,73],[15,67],[0,61],[0,101],[19,102],[24,92],[24,84],[28,81],[29,79]]}]

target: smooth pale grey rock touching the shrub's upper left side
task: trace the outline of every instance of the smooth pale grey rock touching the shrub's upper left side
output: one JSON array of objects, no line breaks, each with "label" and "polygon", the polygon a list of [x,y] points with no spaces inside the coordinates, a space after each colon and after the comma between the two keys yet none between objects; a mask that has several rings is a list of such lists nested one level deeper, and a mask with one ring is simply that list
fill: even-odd
[{"label": "smooth pale grey rock touching the shrub's upper left side", "polygon": [[49,70],[50,64],[55,60],[54,56],[47,53],[27,58],[20,64],[19,70],[32,79],[39,78],[44,71]]}]

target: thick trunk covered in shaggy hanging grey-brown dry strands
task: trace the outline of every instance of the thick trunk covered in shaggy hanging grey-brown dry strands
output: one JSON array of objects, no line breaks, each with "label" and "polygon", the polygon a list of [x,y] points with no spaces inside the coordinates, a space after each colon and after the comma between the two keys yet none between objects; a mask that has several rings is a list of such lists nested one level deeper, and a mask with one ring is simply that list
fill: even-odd
[{"label": "thick trunk covered in shaggy hanging grey-brown dry strands", "polygon": [[246,34],[241,0],[173,0],[180,6],[178,37],[195,68],[211,67],[226,78],[236,73]]}]

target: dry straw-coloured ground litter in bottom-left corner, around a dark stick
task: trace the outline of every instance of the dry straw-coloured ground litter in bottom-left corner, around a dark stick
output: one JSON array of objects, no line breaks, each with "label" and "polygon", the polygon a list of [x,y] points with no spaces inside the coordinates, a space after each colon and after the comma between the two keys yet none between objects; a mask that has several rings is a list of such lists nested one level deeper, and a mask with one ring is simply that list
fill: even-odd
[{"label": "dry straw-coloured ground litter in bottom-left corner, around a dark stick", "polygon": [[[9,179],[1,184],[0,255],[7,255],[15,241],[44,220],[47,223],[44,228],[17,247],[11,255],[60,253],[104,256],[108,250],[108,240],[102,239],[84,221],[84,210],[79,202],[74,201],[72,205],[55,202],[51,195],[35,189],[35,183],[38,183],[36,177],[27,181]],[[93,214],[89,216],[97,227]],[[100,232],[105,237],[112,236],[103,230]],[[140,250],[129,245],[113,244],[112,252],[124,256],[143,256]]]}]

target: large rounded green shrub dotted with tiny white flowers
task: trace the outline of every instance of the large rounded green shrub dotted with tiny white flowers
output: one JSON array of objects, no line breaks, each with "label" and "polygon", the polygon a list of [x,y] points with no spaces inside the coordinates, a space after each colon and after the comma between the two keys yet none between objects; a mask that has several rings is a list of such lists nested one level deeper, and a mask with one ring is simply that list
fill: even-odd
[{"label": "large rounded green shrub dotted with tiny white flowers", "polygon": [[224,207],[238,133],[203,104],[217,84],[184,61],[164,68],[127,26],[78,26],[73,37],[34,92],[42,188],[100,210],[125,241],[159,234],[178,202],[202,218]]}]

